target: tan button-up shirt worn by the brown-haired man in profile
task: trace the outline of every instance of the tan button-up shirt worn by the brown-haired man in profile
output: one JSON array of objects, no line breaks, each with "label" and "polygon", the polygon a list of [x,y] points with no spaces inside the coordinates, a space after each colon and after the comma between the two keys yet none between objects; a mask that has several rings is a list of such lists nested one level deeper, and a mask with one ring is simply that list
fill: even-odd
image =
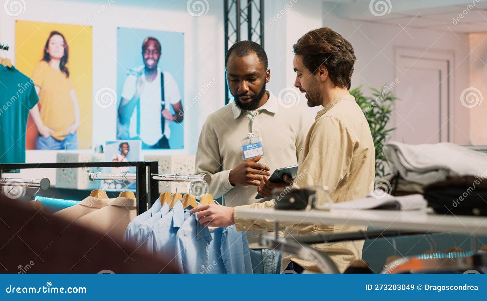
[{"label": "tan button-up shirt worn by the brown-haired man in profile", "polygon": [[[375,148],[367,120],[353,96],[341,97],[318,112],[301,155],[298,179],[294,187],[326,185],[334,202],[365,197],[369,193],[375,176]],[[318,199],[324,201],[323,195]],[[237,230],[272,229],[274,221],[240,218],[239,209],[266,208],[273,207],[274,204],[274,200],[270,200],[235,208]],[[286,226],[286,235],[356,231],[367,228],[319,224]],[[361,258],[363,241],[317,244],[314,247],[326,251],[338,270],[343,272],[353,260]],[[285,269],[290,261],[304,268],[317,269],[314,263],[289,254],[283,256],[281,269]]]}]

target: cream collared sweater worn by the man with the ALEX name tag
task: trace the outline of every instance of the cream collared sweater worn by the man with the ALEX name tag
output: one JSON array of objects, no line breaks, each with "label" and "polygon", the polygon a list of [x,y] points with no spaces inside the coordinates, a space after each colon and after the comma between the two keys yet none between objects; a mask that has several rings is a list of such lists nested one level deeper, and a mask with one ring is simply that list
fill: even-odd
[{"label": "cream collared sweater worn by the man with the ALEX name tag", "polygon": [[[230,103],[209,115],[201,130],[196,151],[196,174],[212,175],[209,193],[214,198],[224,196],[224,205],[235,207],[257,201],[257,186],[232,186],[228,181],[230,170],[242,163],[241,140],[247,133],[262,138],[264,156],[259,163],[275,169],[298,164],[299,150],[312,124],[313,117],[300,106],[287,107],[276,96],[269,95],[253,118]],[[270,198],[267,198],[270,199]],[[283,230],[283,228],[282,228]],[[265,229],[247,231],[250,248],[260,248],[260,234],[273,233]],[[282,231],[283,234],[283,231]]]}]

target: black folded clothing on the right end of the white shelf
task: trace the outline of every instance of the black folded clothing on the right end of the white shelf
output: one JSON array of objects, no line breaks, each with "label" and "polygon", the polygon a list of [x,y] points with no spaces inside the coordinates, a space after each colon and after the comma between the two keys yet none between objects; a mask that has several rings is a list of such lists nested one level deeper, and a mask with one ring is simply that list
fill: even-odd
[{"label": "black folded clothing on the right end of the white shelf", "polygon": [[428,205],[437,213],[487,216],[487,181],[482,176],[447,177],[424,189]]}]

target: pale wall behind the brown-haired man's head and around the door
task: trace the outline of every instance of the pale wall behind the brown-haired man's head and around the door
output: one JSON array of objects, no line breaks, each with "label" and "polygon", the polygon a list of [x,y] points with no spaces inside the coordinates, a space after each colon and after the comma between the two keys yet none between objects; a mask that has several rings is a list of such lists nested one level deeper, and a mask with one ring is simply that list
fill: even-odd
[{"label": "pale wall behind the brown-haired man's head and around the door", "polygon": [[[380,89],[384,83],[390,84],[394,81],[396,78],[394,51],[398,47],[453,52],[454,66],[451,67],[453,70],[451,72],[453,95],[450,99],[452,110],[451,138],[456,143],[468,144],[468,110],[459,101],[462,90],[469,87],[468,35],[454,34],[451,31],[419,30],[407,27],[403,30],[400,26],[338,18],[340,6],[334,3],[322,3],[316,0],[281,0],[276,2],[278,2],[274,5],[275,8],[278,8],[276,14],[279,10],[285,12],[284,17],[279,18],[274,26],[281,26],[285,23],[286,58],[282,63],[285,64],[284,85],[286,87],[292,87],[295,80],[295,73],[292,71],[294,56],[292,45],[301,35],[319,27],[330,27],[352,43],[357,57],[352,76],[352,88],[362,85],[366,95],[370,95],[369,87]],[[282,14],[280,13],[280,15]],[[269,49],[266,50],[269,53]],[[306,106],[306,99],[301,94],[300,106]],[[310,117],[318,109],[309,109]],[[397,114],[401,115],[401,112],[397,112]]]}]

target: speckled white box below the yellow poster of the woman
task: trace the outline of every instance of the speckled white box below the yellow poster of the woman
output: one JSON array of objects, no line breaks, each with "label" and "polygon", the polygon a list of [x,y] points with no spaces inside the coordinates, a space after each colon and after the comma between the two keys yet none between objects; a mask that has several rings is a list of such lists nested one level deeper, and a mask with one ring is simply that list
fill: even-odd
[{"label": "speckled white box below the yellow poster of the woman", "polygon": [[[56,162],[104,162],[100,153],[57,153]],[[99,186],[88,179],[91,172],[102,172],[103,167],[56,168],[56,187],[74,189],[96,189]]]}]

